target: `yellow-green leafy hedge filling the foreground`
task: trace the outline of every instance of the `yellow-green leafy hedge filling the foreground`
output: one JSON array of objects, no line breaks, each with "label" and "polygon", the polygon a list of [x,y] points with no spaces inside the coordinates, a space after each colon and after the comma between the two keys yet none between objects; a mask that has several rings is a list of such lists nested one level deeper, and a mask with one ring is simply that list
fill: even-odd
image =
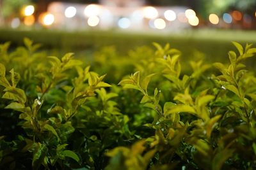
[{"label": "yellow-green leafy hedge filling the foreground", "polygon": [[232,43],[229,64],[191,60],[190,73],[169,44],[131,63],[104,48],[100,74],[28,38],[0,45],[1,169],[255,169],[256,78],[243,63],[256,48]]}]

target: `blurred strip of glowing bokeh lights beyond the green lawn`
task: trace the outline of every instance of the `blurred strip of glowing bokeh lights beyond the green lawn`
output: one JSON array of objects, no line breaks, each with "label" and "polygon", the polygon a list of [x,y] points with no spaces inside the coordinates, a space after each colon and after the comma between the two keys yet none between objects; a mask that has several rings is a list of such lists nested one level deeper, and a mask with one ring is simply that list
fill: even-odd
[{"label": "blurred strip of glowing bokeh lights beyond the green lawn", "polygon": [[0,25],[13,29],[256,29],[255,0],[0,0],[0,6]]}]

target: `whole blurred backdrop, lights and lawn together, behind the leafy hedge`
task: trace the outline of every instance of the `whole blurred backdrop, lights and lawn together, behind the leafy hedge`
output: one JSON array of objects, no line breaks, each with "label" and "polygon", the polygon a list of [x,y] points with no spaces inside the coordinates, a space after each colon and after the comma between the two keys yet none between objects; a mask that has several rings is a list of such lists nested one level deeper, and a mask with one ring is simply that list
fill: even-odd
[{"label": "whole blurred backdrop, lights and lawn together, behind the leafy hedge", "polygon": [[200,55],[214,62],[235,50],[231,41],[256,43],[256,1],[0,0],[0,43],[16,47],[24,37],[58,51],[56,56],[75,52],[94,60],[97,51],[112,46],[106,53],[123,60],[157,42],[179,49],[184,62]]}]

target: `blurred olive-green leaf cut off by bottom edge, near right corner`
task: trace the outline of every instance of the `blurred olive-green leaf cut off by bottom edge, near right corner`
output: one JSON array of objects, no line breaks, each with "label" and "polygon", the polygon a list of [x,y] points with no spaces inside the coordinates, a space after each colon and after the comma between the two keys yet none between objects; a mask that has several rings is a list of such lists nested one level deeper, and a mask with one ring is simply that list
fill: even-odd
[{"label": "blurred olive-green leaf cut off by bottom edge, near right corner", "polygon": [[214,158],[212,159],[212,170],[220,170],[225,161],[231,157],[234,153],[234,150],[230,150],[225,148],[224,150],[220,150],[220,152],[216,153]]}]

